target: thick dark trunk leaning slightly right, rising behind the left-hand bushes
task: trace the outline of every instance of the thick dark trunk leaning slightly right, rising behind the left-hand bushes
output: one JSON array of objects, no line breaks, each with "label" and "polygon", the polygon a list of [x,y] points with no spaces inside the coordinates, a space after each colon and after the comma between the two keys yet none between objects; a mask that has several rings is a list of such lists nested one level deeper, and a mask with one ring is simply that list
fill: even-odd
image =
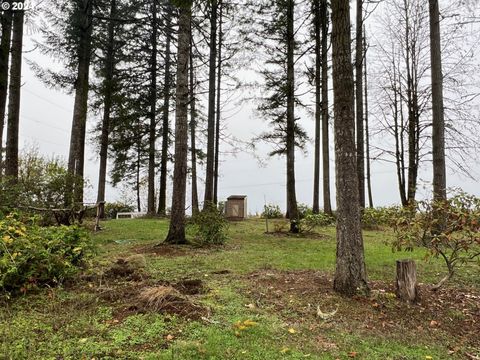
[{"label": "thick dark trunk leaning slightly right, rising behind the left-hand bushes", "polygon": [[70,207],[83,203],[83,168],[85,162],[85,134],[88,110],[90,52],[92,42],[92,0],[83,0],[77,9],[79,21],[78,68],[75,80],[72,131],[68,154],[68,183],[65,205]]}]

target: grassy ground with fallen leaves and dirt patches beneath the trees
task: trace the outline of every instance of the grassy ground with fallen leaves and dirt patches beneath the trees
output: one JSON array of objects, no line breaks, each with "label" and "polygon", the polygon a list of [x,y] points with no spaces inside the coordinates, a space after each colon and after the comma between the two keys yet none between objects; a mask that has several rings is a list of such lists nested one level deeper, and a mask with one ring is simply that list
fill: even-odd
[{"label": "grassy ground with fallen leaves and dirt patches beneath the trees", "polygon": [[[372,291],[347,299],[332,291],[333,227],[266,234],[252,219],[208,249],[155,247],[163,220],[103,228],[77,281],[0,305],[1,359],[480,358],[479,266],[433,293],[443,264],[421,249],[392,252],[388,230],[364,232]],[[126,266],[135,254],[139,266]],[[395,260],[405,257],[417,260],[413,305],[394,295]]]}]

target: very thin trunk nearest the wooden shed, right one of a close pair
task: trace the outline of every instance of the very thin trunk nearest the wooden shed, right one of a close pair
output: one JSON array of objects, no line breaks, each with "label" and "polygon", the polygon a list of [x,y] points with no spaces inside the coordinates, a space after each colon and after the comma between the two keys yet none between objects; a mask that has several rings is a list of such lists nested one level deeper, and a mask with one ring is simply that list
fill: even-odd
[{"label": "very thin trunk nearest the wooden shed, right one of a close pair", "polygon": [[217,74],[217,120],[215,124],[215,166],[214,166],[214,182],[213,182],[213,203],[218,203],[218,162],[220,155],[220,120],[221,120],[221,95],[222,95],[222,21],[223,21],[223,4],[222,0],[218,0],[219,14],[219,30],[218,30],[218,74]]}]

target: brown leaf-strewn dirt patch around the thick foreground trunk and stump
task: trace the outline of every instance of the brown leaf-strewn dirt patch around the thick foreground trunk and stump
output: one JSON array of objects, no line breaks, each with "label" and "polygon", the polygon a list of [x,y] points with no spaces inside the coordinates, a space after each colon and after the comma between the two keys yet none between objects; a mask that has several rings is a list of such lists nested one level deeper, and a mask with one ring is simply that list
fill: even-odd
[{"label": "brown leaf-strewn dirt patch around the thick foreground trunk and stump", "polygon": [[[371,281],[371,294],[344,298],[332,290],[331,278],[312,270],[262,270],[247,276],[249,294],[258,307],[273,308],[288,322],[311,330],[337,328],[351,333],[391,336],[406,341],[446,341],[480,349],[480,292],[419,285],[416,304],[396,299],[393,284]],[[410,338],[410,339],[409,339]]]}]

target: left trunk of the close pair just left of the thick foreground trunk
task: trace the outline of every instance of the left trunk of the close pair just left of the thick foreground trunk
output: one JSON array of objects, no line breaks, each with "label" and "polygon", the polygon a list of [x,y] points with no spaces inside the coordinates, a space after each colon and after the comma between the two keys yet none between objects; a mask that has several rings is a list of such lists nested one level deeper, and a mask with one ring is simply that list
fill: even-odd
[{"label": "left trunk of the close pair just left of the thick foreground trunk", "polygon": [[320,2],[314,1],[315,28],[315,156],[313,165],[313,213],[320,211],[320,125],[322,121],[322,44]]}]

